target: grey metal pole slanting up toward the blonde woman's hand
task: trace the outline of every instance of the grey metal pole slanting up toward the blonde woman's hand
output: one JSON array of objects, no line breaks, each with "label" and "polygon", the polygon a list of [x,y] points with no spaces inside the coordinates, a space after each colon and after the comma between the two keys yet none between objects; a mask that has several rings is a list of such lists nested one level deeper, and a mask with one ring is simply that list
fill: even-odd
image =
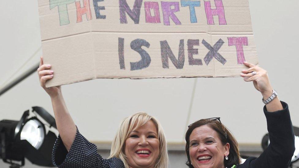
[{"label": "grey metal pole slanting up toward the blonde woman's hand", "polygon": [[32,66],[30,69],[28,69],[26,72],[21,74],[19,77],[14,79],[13,81],[9,82],[6,86],[0,89],[0,96],[8,91],[9,89],[13,88],[15,85],[20,83],[22,80],[26,79],[28,76],[30,76],[32,73],[36,72],[38,67],[40,66],[40,63],[37,63],[36,65]]}]

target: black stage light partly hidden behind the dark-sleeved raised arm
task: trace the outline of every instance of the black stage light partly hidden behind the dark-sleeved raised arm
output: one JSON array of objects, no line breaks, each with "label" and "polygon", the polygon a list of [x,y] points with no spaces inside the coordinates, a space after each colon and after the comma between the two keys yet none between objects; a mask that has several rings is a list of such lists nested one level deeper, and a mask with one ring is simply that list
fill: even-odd
[{"label": "black stage light partly hidden behind the dark-sleeved raised arm", "polygon": [[[293,126],[293,130],[295,134],[295,152],[291,159],[291,165],[290,165],[291,168],[293,167],[293,163],[299,160],[299,128]],[[269,144],[270,144],[269,133],[267,133],[262,139],[263,150],[265,150]]]}]

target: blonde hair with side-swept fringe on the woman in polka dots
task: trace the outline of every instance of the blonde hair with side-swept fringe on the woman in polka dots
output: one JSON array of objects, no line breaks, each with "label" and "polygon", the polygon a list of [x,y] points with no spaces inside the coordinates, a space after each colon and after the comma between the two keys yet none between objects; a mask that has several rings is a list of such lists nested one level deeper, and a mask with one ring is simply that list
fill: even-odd
[{"label": "blonde hair with side-swept fringe on the woman in polka dots", "polygon": [[136,113],[123,119],[115,135],[115,138],[112,141],[109,158],[112,157],[119,158],[123,161],[125,167],[129,168],[127,162],[127,156],[125,155],[125,151],[124,151],[125,142],[132,131],[146,124],[147,121],[153,121],[153,123],[156,125],[158,131],[158,139],[160,142],[160,153],[157,162],[155,164],[155,168],[168,167],[169,159],[168,159],[167,143],[166,143],[164,131],[159,121],[156,118],[144,112]]}]

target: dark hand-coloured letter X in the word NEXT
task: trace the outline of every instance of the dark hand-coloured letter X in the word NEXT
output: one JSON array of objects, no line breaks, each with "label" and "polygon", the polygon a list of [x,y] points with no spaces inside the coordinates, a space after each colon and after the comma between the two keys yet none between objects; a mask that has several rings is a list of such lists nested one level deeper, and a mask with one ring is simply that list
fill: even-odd
[{"label": "dark hand-coloured letter X in the word NEXT", "polygon": [[208,65],[211,60],[215,57],[221,64],[225,64],[226,60],[223,58],[219,53],[218,50],[221,48],[223,45],[224,41],[222,39],[219,39],[216,44],[212,47],[209,43],[207,43],[204,39],[202,40],[202,44],[206,46],[207,49],[210,51],[208,54],[206,54],[205,58],[203,59],[206,62],[206,65]]}]

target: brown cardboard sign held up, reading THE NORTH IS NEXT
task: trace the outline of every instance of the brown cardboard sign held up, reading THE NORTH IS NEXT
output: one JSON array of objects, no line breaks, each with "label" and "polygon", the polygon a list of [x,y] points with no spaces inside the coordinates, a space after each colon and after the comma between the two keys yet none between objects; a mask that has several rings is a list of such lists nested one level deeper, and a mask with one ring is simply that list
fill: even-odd
[{"label": "brown cardboard sign held up, reading THE NORTH IS NEXT", "polygon": [[47,87],[96,78],[237,77],[258,64],[248,0],[39,0]]}]

